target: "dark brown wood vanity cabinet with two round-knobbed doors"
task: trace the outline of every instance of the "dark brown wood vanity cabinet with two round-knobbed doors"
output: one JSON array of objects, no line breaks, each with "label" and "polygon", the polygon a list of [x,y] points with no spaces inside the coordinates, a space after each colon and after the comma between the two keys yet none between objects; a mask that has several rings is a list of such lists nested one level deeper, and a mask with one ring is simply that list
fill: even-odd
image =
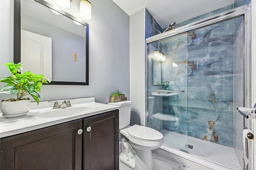
[{"label": "dark brown wood vanity cabinet with two round-knobbed doors", "polygon": [[0,150],[1,170],[118,170],[118,110],[2,138]]}]

